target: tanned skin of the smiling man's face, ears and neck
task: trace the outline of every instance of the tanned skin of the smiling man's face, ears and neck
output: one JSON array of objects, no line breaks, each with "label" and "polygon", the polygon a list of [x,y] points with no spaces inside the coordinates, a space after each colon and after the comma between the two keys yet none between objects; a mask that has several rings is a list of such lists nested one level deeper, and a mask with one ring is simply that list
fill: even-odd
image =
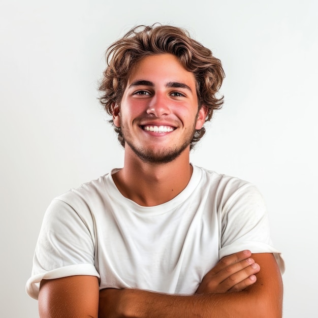
[{"label": "tanned skin of the smiling man's face, ears and neck", "polygon": [[[142,59],[132,70],[120,106],[115,105],[113,111],[114,124],[121,126],[126,140],[124,167],[113,175],[123,196],[142,206],[154,206],[179,194],[192,175],[189,137],[194,128],[202,128],[205,117],[206,108],[198,110],[194,75],[174,55]],[[173,131],[160,134],[143,129],[154,125]],[[188,145],[184,148],[185,140]],[[184,150],[166,163],[145,162],[134,150],[160,160],[182,147]]]}]

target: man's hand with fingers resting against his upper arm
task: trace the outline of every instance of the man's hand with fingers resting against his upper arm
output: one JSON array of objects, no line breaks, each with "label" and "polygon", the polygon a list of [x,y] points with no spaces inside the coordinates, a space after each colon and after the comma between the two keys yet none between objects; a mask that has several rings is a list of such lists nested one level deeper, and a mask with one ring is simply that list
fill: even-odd
[{"label": "man's hand with fingers resting against his upper arm", "polygon": [[239,292],[256,282],[260,266],[244,250],[222,258],[202,279],[196,294]]}]

